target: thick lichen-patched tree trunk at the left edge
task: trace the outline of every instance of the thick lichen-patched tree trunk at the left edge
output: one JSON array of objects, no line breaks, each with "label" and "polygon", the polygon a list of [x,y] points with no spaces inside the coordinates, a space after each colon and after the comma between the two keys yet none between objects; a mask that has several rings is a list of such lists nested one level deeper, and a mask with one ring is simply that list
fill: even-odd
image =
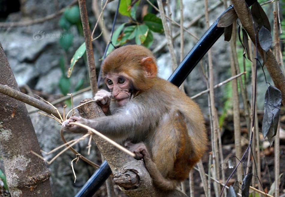
[{"label": "thick lichen-patched tree trunk at the left edge", "polygon": [[[0,84],[19,91],[1,43],[0,67]],[[41,154],[25,104],[0,93],[0,111],[0,154],[11,196],[52,196],[49,170],[43,160],[30,153]]]}]

